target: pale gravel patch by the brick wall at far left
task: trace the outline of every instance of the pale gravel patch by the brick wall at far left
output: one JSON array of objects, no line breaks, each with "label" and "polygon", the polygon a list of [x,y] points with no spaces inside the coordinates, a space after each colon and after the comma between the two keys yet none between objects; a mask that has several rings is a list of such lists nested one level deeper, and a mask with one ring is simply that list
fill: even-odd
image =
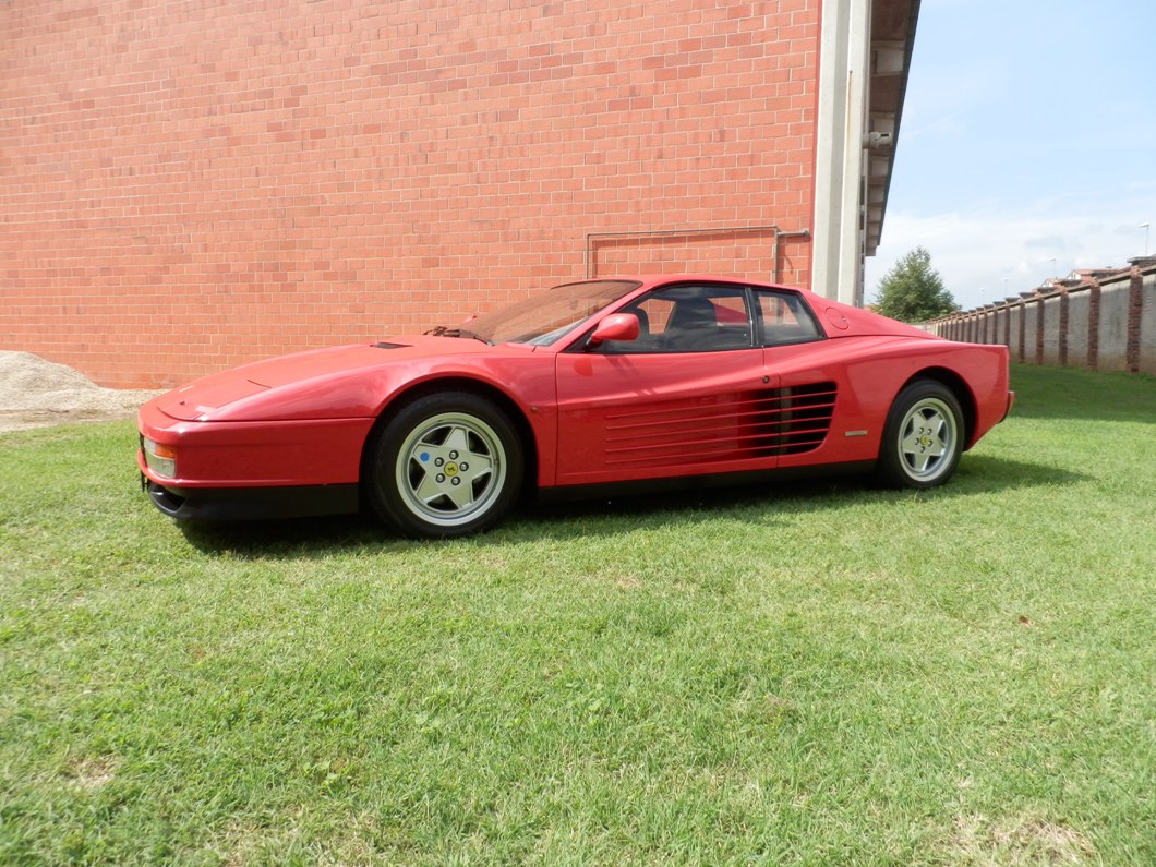
[{"label": "pale gravel patch by the brick wall at far left", "polygon": [[0,431],[127,418],[160,391],[103,388],[31,353],[0,351]]}]

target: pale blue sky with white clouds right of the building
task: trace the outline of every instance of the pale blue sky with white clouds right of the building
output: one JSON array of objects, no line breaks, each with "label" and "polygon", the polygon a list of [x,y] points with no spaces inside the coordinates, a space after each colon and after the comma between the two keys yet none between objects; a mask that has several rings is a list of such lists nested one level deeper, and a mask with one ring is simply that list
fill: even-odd
[{"label": "pale blue sky with white clouds right of the building", "polygon": [[1156,0],[922,0],[866,298],[916,246],[965,309],[1156,252]]}]

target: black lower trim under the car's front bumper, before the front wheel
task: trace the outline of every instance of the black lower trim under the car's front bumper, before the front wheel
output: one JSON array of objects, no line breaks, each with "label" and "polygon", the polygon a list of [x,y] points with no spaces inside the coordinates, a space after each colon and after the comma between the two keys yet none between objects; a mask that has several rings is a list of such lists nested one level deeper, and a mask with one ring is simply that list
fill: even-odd
[{"label": "black lower trim under the car's front bumper, before the front wheel", "polygon": [[258,520],[358,511],[356,484],[296,488],[165,488],[148,483],[158,510],[177,520]]}]

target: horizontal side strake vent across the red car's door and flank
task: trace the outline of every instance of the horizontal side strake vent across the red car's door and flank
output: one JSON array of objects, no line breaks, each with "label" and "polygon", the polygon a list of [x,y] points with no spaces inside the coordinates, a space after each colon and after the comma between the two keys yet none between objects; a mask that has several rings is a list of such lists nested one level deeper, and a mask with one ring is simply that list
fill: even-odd
[{"label": "horizontal side strake vent across the red car's door and flank", "polygon": [[654,467],[802,454],[827,439],[835,397],[835,383],[815,383],[613,415],[607,462]]}]

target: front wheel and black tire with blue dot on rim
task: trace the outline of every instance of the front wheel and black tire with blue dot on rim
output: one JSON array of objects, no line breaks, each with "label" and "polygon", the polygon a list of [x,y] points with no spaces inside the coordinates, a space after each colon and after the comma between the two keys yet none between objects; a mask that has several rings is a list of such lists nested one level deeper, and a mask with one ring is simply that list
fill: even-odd
[{"label": "front wheel and black tire with blue dot on rim", "polygon": [[518,432],[498,407],[438,392],[397,410],[370,446],[364,481],[373,510],[395,529],[447,539],[501,520],[523,473]]}]

